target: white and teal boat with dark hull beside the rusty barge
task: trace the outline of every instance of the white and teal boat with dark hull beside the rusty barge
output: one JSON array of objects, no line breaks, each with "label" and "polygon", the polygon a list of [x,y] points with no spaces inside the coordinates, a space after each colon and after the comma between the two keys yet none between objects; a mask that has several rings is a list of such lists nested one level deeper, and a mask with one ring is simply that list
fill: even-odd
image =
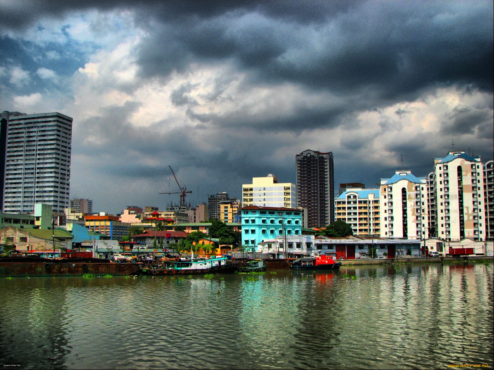
[{"label": "white and teal boat with dark hull beside the rusty barge", "polygon": [[233,273],[238,267],[224,256],[165,260],[161,264],[147,265],[142,272],[148,275]]}]

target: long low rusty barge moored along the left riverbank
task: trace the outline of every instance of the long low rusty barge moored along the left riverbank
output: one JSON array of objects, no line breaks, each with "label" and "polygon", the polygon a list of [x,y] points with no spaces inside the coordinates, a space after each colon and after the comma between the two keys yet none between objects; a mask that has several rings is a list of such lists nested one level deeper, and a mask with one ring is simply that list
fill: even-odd
[{"label": "long low rusty barge moored along the left riverbank", "polygon": [[134,275],[142,263],[117,263],[108,259],[7,257],[0,259],[0,277]]}]

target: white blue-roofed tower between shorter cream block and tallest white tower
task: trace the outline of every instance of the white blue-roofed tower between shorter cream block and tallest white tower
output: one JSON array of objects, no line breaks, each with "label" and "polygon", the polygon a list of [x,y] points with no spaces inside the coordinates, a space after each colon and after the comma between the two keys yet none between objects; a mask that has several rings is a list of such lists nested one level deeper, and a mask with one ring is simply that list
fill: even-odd
[{"label": "white blue-roofed tower between shorter cream block and tallest white tower", "polygon": [[409,170],[381,179],[380,229],[383,238],[428,238],[428,200],[425,178]]}]

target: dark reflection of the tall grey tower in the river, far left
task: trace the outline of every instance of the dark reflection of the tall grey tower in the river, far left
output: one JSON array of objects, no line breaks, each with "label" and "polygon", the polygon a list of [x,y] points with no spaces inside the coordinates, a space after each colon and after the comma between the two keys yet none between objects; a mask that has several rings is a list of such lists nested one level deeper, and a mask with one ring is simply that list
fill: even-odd
[{"label": "dark reflection of the tall grey tower in the river, far left", "polygon": [[[9,313],[2,315],[3,363],[20,363],[22,368],[63,369],[70,353],[66,336],[70,329],[65,327],[69,306],[65,285],[63,278],[36,278],[17,282],[17,289],[2,289],[0,311]],[[20,356],[18,349],[25,356]]]}]

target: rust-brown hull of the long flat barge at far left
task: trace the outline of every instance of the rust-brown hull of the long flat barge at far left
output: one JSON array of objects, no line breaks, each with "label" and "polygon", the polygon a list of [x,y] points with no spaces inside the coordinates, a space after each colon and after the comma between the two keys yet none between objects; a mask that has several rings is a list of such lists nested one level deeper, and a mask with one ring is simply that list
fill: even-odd
[{"label": "rust-brown hull of the long flat barge at far left", "polygon": [[0,276],[134,275],[142,263],[0,262]]}]

